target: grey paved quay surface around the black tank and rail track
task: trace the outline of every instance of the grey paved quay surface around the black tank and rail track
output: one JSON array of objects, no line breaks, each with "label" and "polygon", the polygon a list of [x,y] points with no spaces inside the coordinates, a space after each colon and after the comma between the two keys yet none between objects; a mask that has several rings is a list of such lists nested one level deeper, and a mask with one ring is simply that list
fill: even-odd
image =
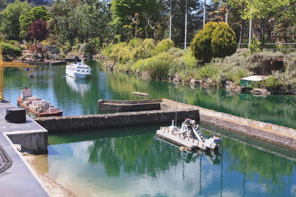
[{"label": "grey paved quay surface around the black tank and rail track", "polygon": [[40,130],[42,127],[28,116],[26,123],[7,123],[5,109],[12,106],[14,105],[8,101],[0,102],[0,143],[13,161],[9,170],[0,174],[0,196],[49,196],[38,182],[35,172],[22,160],[20,153],[3,134],[6,131]]}]

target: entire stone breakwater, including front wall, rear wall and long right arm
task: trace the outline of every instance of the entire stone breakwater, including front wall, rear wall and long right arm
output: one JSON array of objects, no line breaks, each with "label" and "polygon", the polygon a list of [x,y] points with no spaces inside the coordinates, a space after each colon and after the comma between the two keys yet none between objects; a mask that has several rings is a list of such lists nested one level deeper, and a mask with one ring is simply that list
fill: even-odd
[{"label": "entire stone breakwater, including front wall, rear wall and long right arm", "polygon": [[[274,144],[296,149],[296,130],[292,128],[241,118],[168,99],[146,101],[147,103],[160,103],[160,108],[162,110],[34,118],[34,120],[46,128],[49,132],[79,131],[85,129],[147,125],[153,123],[161,123],[161,125],[163,125],[163,123],[168,123],[175,119],[175,109],[177,107],[178,122],[183,121],[185,118],[192,118],[197,121],[200,120],[237,133],[242,133],[247,136],[253,136],[257,139],[270,141]],[[139,106],[143,106],[146,101],[99,100],[98,106],[105,103],[107,104],[108,109],[112,110],[112,108],[116,109],[120,105],[134,105],[135,103]]]}]

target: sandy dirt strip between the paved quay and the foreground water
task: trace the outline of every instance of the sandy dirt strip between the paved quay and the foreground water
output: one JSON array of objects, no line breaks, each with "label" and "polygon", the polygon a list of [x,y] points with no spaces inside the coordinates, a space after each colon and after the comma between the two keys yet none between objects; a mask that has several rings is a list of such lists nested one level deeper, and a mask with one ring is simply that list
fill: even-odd
[{"label": "sandy dirt strip between the paved quay and the foreground water", "polygon": [[[28,162],[28,164],[32,167],[34,172],[37,174],[38,178],[41,180],[41,183],[44,187],[49,191],[50,195],[53,197],[77,197],[74,193],[70,190],[64,188],[62,184],[56,183],[54,180],[48,178],[42,169],[38,166],[37,161],[41,160],[42,157],[46,157],[46,155],[33,155],[30,153],[21,153],[22,157]],[[41,158],[41,159],[40,159]],[[37,160],[38,159],[38,160]]]}]

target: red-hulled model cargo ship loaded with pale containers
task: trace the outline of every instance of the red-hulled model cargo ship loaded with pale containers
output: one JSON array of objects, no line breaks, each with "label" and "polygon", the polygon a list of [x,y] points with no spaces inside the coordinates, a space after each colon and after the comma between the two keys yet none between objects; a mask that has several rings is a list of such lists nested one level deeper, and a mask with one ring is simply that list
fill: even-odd
[{"label": "red-hulled model cargo ship loaded with pale containers", "polygon": [[17,104],[20,107],[26,108],[27,110],[39,117],[63,115],[63,111],[51,105],[50,102],[42,100],[40,97],[32,96],[31,89],[26,87],[25,89],[22,89],[20,92],[21,96],[17,98]]}]

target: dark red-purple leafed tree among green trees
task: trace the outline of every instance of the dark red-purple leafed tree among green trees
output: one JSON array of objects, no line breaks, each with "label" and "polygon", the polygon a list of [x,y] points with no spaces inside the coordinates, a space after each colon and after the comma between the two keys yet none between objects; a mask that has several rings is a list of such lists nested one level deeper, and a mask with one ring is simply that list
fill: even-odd
[{"label": "dark red-purple leafed tree among green trees", "polygon": [[37,40],[44,40],[49,36],[50,30],[47,29],[47,22],[37,19],[32,22],[26,33],[26,37],[30,40],[36,38]]}]

